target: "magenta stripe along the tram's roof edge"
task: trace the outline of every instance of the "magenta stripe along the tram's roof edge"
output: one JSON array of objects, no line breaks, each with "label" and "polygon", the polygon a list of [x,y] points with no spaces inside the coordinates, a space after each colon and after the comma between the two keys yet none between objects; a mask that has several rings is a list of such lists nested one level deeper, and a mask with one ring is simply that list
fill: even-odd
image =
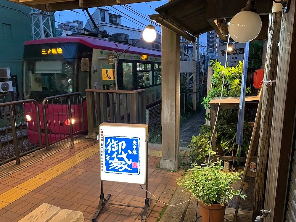
[{"label": "magenta stripe along the tram's roof edge", "polygon": [[[60,43],[60,42],[76,42],[83,45],[89,46],[94,49],[102,50],[115,50],[116,52],[123,52],[125,49],[130,47],[130,45],[121,44],[118,42],[107,41],[99,38],[94,38],[90,36],[63,36],[63,37],[52,37],[52,38],[43,38],[37,40],[26,41],[24,45],[33,45],[33,44],[46,44],[46,43]],[[147,54],[148,56],[161,57],[161,52],[142,49],[135,46],[129,48],[126,53],[132,54]]]}]

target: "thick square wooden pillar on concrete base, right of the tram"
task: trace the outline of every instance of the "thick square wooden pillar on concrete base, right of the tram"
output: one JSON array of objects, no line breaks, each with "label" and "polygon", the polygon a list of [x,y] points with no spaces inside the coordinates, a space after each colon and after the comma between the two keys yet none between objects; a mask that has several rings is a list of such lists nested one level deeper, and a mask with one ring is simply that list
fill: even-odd
[{"label": "thick square wooden pillar on concrete base, right of the tram", "polygon": [[161,35],[161,126],[160,168],[178,170],[180,166],[180,36],[162,27]]}]

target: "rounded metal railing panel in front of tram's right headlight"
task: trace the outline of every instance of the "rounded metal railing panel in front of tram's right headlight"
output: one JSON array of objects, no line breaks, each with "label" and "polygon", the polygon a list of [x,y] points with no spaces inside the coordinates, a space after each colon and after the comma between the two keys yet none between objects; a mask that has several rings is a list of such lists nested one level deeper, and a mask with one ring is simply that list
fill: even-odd
[{"label": "rounded metal railing panel in front of tram's right headlight", "polygon": [[[81,93],[46,97],[42,101],[42,113],[47,151],[49,151],[50,144],[67,137],[70,137],[72,142],[74,141],[74,134],[85,132]],[[51,136],[49,137],[49,135]]]}]

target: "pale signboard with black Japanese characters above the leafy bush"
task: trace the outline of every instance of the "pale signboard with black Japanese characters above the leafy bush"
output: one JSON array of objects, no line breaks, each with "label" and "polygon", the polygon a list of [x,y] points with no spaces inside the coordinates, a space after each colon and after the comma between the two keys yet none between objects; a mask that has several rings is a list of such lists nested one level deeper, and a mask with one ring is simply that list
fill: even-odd
[{"label": "pale signboard with black Japanese characters above the leafy bush", "polygon": [[[227,63],[228,66],[236,66],[239,64],[239,61],[243,62],[244,60],[244,50],[245,50],[245,43],[236,43],[232,44],[232,50],[228,51],[227,54]],[[221,65],[225,66],[225,56],[226,56],[226,49],[227,45],[218,46],[218,61],[221,62]]]}]

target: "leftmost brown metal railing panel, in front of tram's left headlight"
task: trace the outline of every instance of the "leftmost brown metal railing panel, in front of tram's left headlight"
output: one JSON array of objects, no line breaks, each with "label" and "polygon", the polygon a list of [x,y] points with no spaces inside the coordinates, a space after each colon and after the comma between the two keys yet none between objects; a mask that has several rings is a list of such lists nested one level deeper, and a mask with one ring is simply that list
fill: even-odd
[{"label": "leftmost brown metal railing panel, in front of tram's left headlight", "polygon": [[[26,107],[25,107],[26,104]],[[42,148],[40,115],[38,103],[34,99],[24,99],[13,102],[0,103],[0,108],[9,109],[9,116],[4,115],[0,122],[0,165],[16,160],[20,164],[20,157]],[[18,115],[15,115],[15,114]],[[37,126],[33,136],[37,137],[33,143],[28,140],[28,122],[25,113],[30,113],[31,124]],[[34,113],[34,115],[33,115]]]}]

